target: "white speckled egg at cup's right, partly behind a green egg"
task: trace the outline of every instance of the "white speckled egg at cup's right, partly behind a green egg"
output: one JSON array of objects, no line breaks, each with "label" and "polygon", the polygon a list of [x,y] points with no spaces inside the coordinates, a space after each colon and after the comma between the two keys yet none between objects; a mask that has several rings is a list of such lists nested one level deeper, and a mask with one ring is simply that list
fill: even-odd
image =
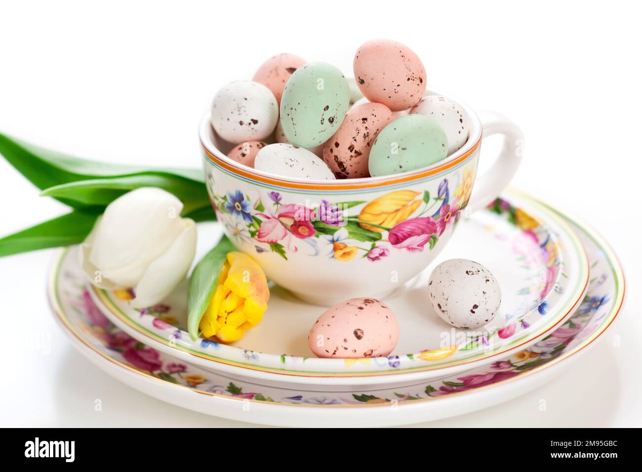
[{"label": "white speckled egg at cup's right, partly behind a green egg", "polygon": [[446,133],[448,155],[464,146],[468,139],[468,119],[454,101],[441,95],[424,96],[412,107],[410,114],[420,114],[435,119]]}]

